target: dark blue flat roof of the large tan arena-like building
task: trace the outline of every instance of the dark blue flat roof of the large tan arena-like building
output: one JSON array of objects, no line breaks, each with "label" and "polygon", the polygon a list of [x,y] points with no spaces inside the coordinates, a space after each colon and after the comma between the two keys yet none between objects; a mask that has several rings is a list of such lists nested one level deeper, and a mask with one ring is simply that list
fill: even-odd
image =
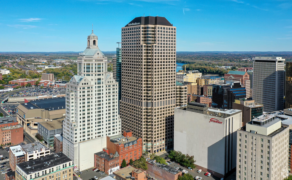
[{"label": "dark blue flat roof of the large tan arena-like building", "polygon": [[65,97],[52,99],[38,99],[28,103],[21,103],[27,109],[45,109],[48,111],[65,109]]}]

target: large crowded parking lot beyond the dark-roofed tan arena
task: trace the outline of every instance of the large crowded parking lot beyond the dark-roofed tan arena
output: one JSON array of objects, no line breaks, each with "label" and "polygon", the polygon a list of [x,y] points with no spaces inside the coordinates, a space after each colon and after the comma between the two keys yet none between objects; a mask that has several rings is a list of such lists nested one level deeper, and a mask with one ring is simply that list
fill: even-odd
[{"label": "large crowded parking lot beyond the dark-roofed tan arena", "polygon": [[[65,88],[27,88],[22,91],[16,92],[13,95],[10,95],[10,97],[25,97],[25,96],[45,96],[45,95],[60,95],[65,94],[66,89]],[[1,95],[2,96],[2,95]]]}]

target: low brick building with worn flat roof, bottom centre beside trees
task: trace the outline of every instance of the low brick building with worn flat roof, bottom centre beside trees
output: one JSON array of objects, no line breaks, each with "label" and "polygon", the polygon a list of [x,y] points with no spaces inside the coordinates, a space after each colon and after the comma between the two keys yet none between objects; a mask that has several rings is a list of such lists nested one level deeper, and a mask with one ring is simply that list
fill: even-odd
[{"label": "low brick building with worn flat roof, bottom centre beside trees", "polygon": [[179,175],[182,175],[182,171],[176,170],[175,168],[160,164],[156,160],[150,159],[146,162],[148,169],[146,173],[149,178],[159,180],[177,180]]}]

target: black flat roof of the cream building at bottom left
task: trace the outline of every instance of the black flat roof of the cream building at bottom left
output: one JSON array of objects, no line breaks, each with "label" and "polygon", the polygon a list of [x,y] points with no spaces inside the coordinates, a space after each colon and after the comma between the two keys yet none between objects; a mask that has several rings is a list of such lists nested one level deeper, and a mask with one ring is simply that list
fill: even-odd
[{"label": "black flat roof of the cream building at bottom left", "polygon": [[17,166],[22,171],[24,171],[25,174],[32,174],[43,169],[48,169],[71,161],[72,160],[65,156],[62,152],[58,152],[56,154],[44,156],[42,158],[37,158],[30,161],[26,161],[24,163],[17,164]]}]

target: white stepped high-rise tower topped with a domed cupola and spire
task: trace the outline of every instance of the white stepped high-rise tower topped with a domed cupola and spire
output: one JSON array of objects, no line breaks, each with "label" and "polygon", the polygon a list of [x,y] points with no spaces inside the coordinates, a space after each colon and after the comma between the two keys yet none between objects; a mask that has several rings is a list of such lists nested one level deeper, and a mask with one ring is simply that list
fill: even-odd
[{"label": "white stepped high-rise tower topped with a domed cupola and spire", "polygon": [[82,171],[94,166],[94,153],[106,147],[106,136],[121,133],[118,83],[107,73],[107,58],[90,34],[77,58],[77,74],[67,83],[63,153]]}]

